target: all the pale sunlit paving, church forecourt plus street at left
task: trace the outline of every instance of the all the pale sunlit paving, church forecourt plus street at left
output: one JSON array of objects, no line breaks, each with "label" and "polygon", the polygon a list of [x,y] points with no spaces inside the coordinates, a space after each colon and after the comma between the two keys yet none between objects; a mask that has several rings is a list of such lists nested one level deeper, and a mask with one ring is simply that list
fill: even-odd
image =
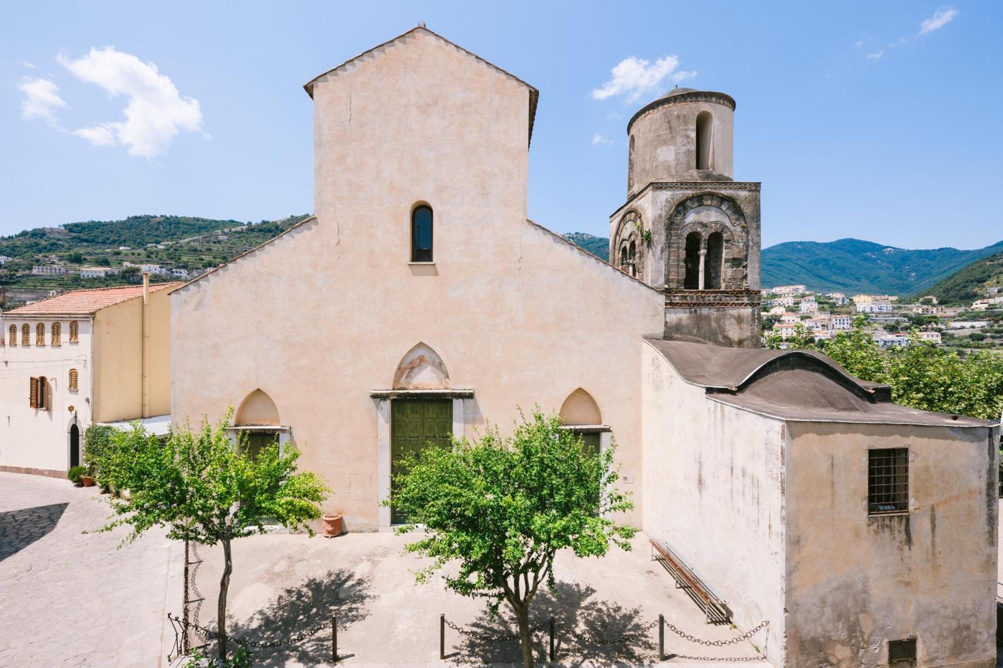
[{"label": "all the pale sunlit paving, church forecourt plus street at left", "polygon": [[[164,613],[181,612],[184,550],[151,533],[116,550],[121,533],[82,534],[101,526],[107,508],[94,487],[66,480],[0,473],[0,666],[165,666],[175,636]],[[337,539],[270,535],[234,544],[230,635],[275,641],[339,619],[341,663],[443,665],[438,660],[438,616],[444,613],[477,636],[512,632],[511,618],[489,619],[482,604],[446,592],[437,578],[415,585],[422,566],[401,554],[406,537],[353,534]],[[198,586],[207,597],[200,621],[215,626],[222,550],[202,549]],[[562,555],[556,594],[543,592],[534,620],[559,619],[562,665],[654,663],[659,613],[694,635],[733,638],[737,632],[705,623],[702,613],[650,561],[646,540],[604,560]],[[627,647],[577,638],[639,633]],[[546,633],[538,636],[546,660]],[[257,650],[256,666],[330,664],[330,632],[292,648]],[[761,642],[761,641],[760,641]],[[755,658],[751,643],[707,648],[666,630],[666,652]],[[446,665],[506,664],[519,660],[516,642],[488,643],[446,630]],[[715,665],[670,659],[672,665]],[[746,665],[766,666],[765,661]]]}]

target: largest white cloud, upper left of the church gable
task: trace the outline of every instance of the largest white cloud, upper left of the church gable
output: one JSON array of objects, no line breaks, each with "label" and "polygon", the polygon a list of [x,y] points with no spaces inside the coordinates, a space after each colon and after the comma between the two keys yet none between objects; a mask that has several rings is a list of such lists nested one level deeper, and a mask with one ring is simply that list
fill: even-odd
[{"label": "largest white cloud, upper left of the church gable", "polygon": [[152,157],[164,152],[179,132],[202,129],[199,100],[182,97],[151,62],[113,46],[91,48],[75,60],[60,56],[59,62],[82,81],[104,88],[111,97],[128,97],[125,120],[73,130],[95,145],[123,145],[132,155]]}]

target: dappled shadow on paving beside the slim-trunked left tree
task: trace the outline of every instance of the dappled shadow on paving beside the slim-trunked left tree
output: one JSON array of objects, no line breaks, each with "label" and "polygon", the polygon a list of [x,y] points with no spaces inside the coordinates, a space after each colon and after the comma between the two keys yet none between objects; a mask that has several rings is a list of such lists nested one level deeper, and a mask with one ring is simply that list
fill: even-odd
[{"label": "dappled shadow on paving beside the slim-trunked left tree", "polygon": [[[317,632],[299,642],[278,647],[250,646],[255,666],[304,665],[331,662],[331,616],[338,620],[338,633],[369,616],[372,599],[369,580],[346,569],[328,571],[284,590],[275,601],[250,620],[230,621],[227,635],[256,643],[288,641],[291,637]],[[236,647],[234,648],[236,649]],[[344,656],[343,652],[339,652]]]}]

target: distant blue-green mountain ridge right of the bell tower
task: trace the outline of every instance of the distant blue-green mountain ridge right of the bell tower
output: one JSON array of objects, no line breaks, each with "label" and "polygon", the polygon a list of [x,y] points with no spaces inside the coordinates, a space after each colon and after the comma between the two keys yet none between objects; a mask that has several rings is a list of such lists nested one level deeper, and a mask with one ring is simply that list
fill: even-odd
[{"label": "distant blue-green mountain ridge right of the bell tower", "polygon": [[802,283],[811,290],[913,295],[966,265],[1003,251],[1003,242],[974,251],[910,251],[858,239],[787,242],[762,252],[762,285]]}]

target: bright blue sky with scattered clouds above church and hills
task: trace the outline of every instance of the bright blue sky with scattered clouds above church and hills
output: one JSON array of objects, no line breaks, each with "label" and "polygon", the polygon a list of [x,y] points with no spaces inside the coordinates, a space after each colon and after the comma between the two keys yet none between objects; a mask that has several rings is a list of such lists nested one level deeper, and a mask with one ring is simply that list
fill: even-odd
[{"label": "bright blue sky with scattered clouds above church and hills", "polygon": [[764,246],[1003,240],[990,1],[4,3],[0,234],[309,212],[302,84],[418,21],[540,89],[530,216],[559,232],[608,234],[626,122],[681,79],[737,100]]}]

